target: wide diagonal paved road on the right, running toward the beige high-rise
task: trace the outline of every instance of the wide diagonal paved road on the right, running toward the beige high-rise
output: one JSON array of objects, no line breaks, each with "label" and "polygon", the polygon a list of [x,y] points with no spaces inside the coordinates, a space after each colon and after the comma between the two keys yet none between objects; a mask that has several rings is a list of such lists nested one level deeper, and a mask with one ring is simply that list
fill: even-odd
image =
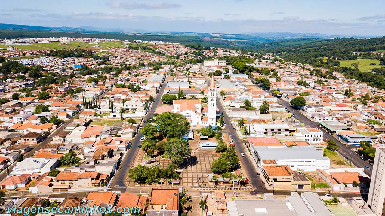
[{"label": "wide diagonal paved road on the right, running toward the beige high-rise", "polygon": [[338,148],[338,152],[343,155],[345,158],[352,158],[352,163],[357,166],[357,167],[364,167],[364,166],[369,166],[371,170],[364,169],[365,174],[368,176],[372,176],[372,168],[373,166],[369,164],[369,162],[364,161],[361,159],[361,157],[355,153],[351,148],[357,148],[357,146],[352,146],[352,145],[346,145],[338,141],[338,139],[335,136],[332,136],[330,133],[328,133],[326,130],[318,126],[319,124],[315,121],[311,121],[308,119],[305,115],[303,115],[300,111],[295,110],[290,107],[290,104],[288,101],[278,99],[278,103],[280,103],[282,106],[285,106],[288,110],[291,111],[291,113],[294,114],[295,118],[301,122],[303,122],[305,125],[309,125],[312,128],[318,128],[323,132],[323,138],[324,140],[334,140],[340,148]]}]

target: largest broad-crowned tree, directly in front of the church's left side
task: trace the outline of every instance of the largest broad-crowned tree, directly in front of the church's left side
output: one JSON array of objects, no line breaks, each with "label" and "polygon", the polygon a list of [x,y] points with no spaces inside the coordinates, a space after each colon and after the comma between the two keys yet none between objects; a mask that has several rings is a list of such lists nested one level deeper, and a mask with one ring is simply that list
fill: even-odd
[{"label": "largest broad-crowned tree, directly in front of the church's left side", "polygon": [[156,117],[156,124],[167,138],[182,138],[190,131],[190,123],[178,113],[164,112]]}]

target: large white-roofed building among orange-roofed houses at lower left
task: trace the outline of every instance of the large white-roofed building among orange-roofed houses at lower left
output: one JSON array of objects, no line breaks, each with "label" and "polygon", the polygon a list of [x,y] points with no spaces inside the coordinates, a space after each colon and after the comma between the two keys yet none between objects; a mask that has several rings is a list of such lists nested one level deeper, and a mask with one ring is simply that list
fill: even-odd
[{"label": "large white-roofed building among orange-roofed houses at lower left", "polygon": [[23,161],[17,162],[10,175],[21,176],[25,173],[47,173],[55,169],[58,164],[59,159],[56,158],[25,158]]}]

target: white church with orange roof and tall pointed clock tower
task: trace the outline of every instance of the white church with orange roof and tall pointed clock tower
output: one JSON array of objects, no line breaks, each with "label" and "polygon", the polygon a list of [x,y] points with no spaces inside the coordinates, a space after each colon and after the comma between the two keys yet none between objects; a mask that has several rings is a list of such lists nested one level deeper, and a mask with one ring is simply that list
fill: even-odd
[{"label": "white church with orange roof and tall pointed clock tower", "polygon": [[211,78],[211,85],[209,88],[207,118],[202,118],[202,106],[200,100],[174,100],[173,106],[174,113],[179,113],[186,117],[191,125],[215,126],[216,89],[214,77]]}]

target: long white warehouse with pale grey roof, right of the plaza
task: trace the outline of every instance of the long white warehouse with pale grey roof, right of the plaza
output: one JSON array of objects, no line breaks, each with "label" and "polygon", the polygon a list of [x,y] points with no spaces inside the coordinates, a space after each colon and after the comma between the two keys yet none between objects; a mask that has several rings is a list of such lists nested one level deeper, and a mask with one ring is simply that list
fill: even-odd
[{"label": "long white warehouse with pale grey roof, right of the plaza", "polygon": [[264,162],[275,161],[276,164],[288,165],[291,169],[303,171],[316,171],[316,169],[329,169],[330,159],[323,156],[313,146],[293,146],[291,148],[268,148],[251,146],[254,160],[260,168]]}]

